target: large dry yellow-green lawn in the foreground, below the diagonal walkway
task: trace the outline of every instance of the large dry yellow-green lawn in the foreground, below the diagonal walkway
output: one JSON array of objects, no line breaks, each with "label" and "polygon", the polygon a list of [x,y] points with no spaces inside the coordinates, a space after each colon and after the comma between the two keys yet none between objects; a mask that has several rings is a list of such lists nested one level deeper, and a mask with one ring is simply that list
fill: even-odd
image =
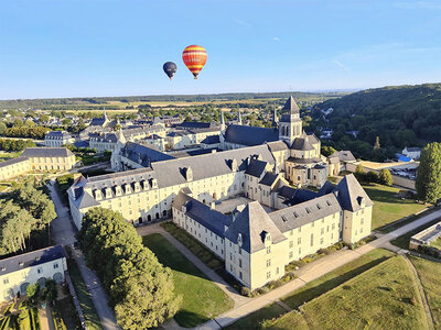
[{"label": "large dry yellow-green lawn in the foreground, below the diagonal walkway", "polygon": [[[415,301],[415,304],[412,304]],[[416,278],[394,256],[281,317],[273,329],[427,329]]]}]

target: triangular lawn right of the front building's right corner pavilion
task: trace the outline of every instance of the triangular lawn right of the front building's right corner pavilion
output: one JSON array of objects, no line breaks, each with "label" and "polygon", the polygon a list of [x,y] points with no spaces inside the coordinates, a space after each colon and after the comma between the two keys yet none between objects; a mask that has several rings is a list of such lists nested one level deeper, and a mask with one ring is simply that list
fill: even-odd
[{"label": "triangular lawn right of the front building's right corner pavilion", "polygon": [[373,230],[426,209],[424,205],[417,204],[411,199],[396,197],[398,188],[377,184],[363,185],[363,188],[374,201]]}]

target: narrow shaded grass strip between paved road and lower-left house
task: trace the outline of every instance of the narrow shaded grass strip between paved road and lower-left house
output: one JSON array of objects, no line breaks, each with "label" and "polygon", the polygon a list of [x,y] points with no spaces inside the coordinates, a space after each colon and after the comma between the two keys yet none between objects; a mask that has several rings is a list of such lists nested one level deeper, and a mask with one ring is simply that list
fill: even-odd
[{"label": "narrow shaded grass strip between paved road and lower-left house", "polygon": [[79,268],[74,260],[67,260],[67,270],[71,275],[72,283],[74,284],[83,315],[86,319],[87,328],[92,330],[103,329],[101,322],[99,321],[97,311],[95,309],[94,301],[92,301],[90,294],[87,290],[82,273],[79,272]]}]

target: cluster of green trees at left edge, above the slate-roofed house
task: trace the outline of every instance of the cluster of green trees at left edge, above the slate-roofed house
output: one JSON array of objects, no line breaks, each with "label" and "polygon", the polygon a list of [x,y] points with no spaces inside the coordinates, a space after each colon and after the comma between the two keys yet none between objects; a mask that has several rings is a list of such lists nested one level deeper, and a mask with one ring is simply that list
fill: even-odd
[{"label": "cluster of green trees at left edge, above the slate-roofed house", "polygon": [[25,252],[32,233],[56,218],[54,204],[33,179],[0,199],[0,253]]}]

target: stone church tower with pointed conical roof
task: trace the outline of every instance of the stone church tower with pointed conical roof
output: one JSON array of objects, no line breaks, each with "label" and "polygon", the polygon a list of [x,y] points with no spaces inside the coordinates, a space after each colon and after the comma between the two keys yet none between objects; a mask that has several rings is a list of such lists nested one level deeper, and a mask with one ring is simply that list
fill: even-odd
[{"label": "stone church tower with pointed conical roof", "polygon": [[282,108],[282,118],[279,121],[279,140],[287,141],[291,145],[294,139],[301,134],[300,109],[291,96]]}]

